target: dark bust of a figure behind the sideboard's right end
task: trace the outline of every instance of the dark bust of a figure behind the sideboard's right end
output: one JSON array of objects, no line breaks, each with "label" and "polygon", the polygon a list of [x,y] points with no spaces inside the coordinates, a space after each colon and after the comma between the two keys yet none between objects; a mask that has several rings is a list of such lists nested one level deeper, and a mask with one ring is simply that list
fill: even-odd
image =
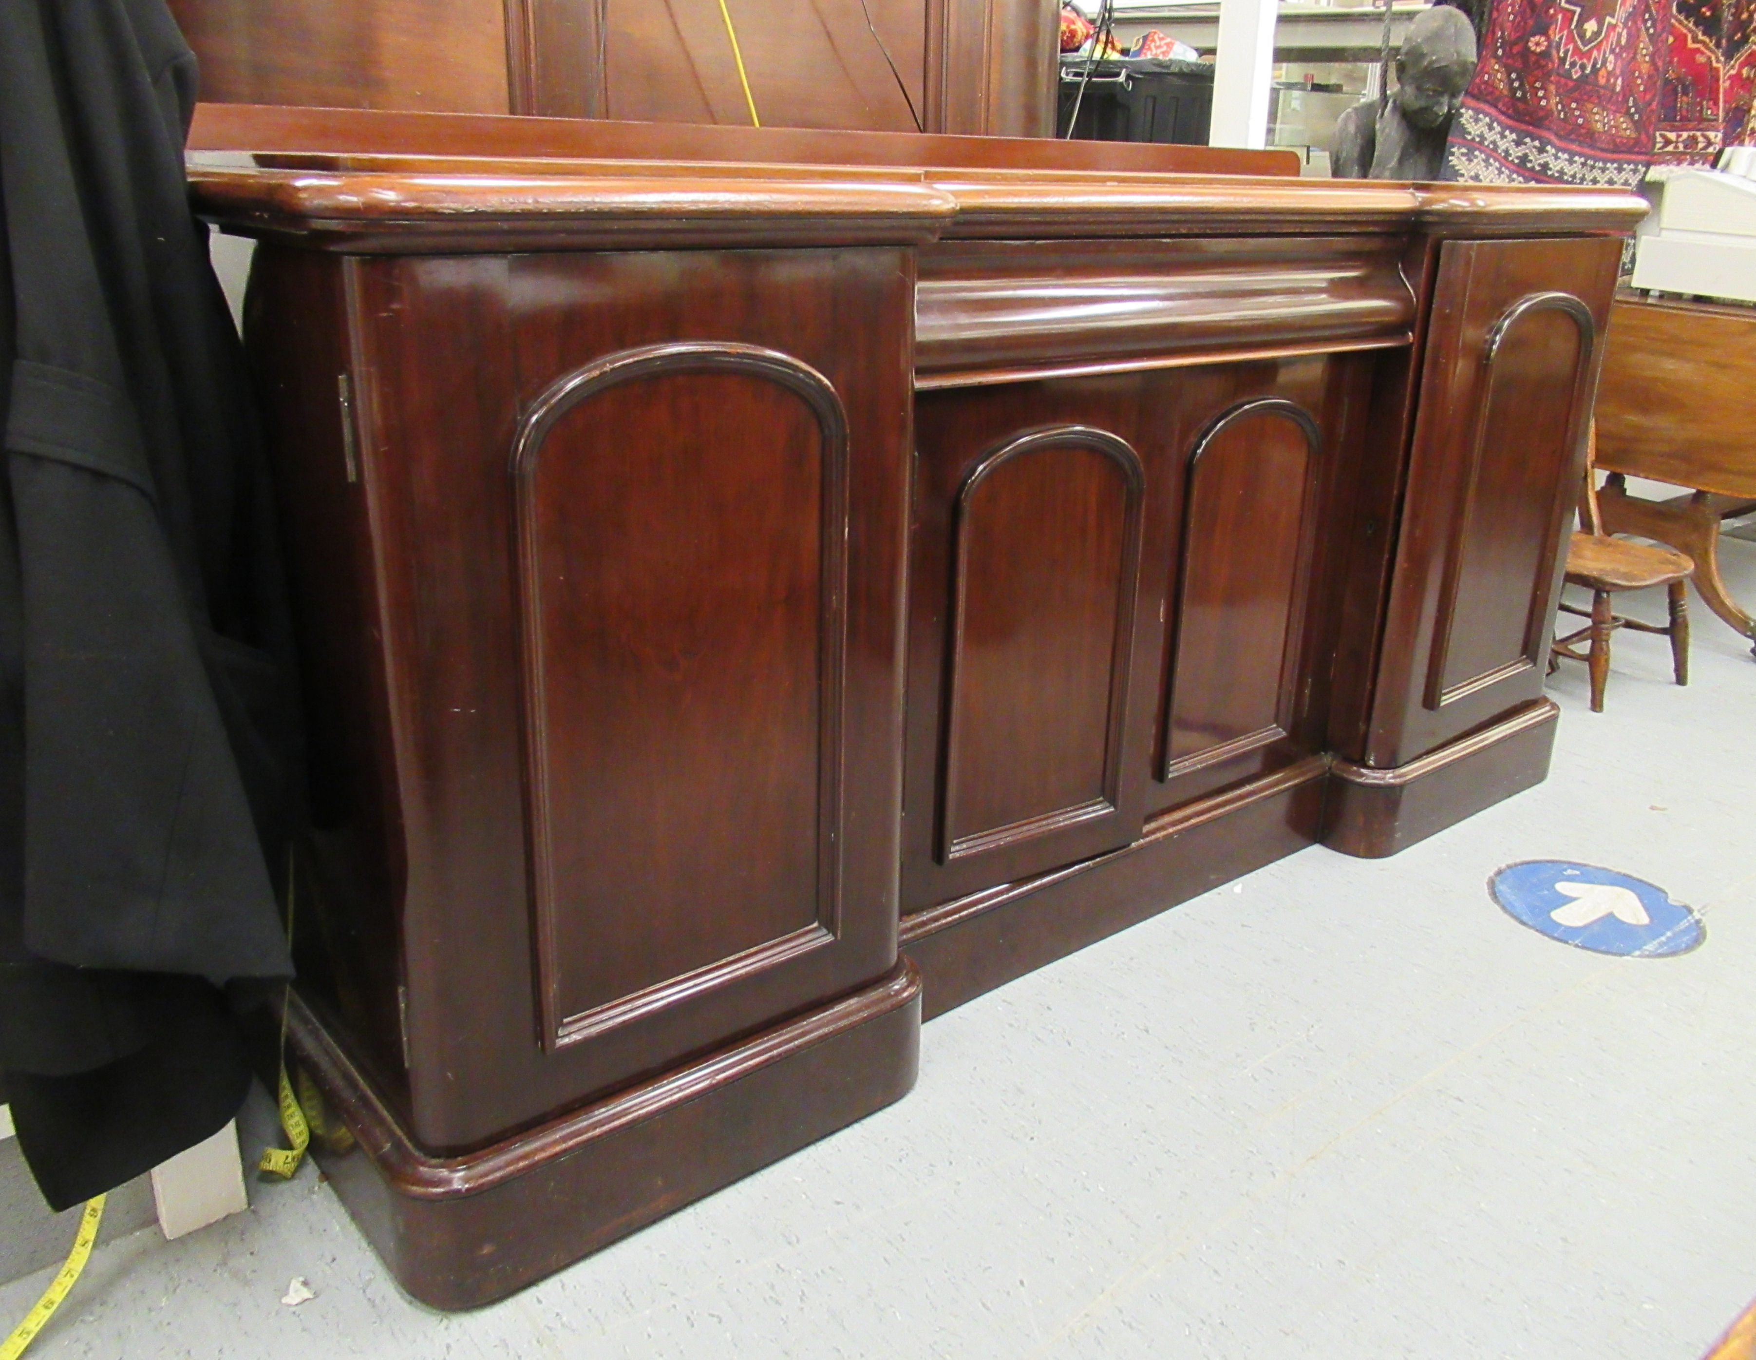
[{"label": "dark bust of a figure behind the sideboard's right end", "polygon": [[1435,5],[1408,26],[1396,56],[1396,95],[1356,104],[1335,125],[1329,174],[1338,179],[1438,179],[1445,135],[1475,74],[1475,30]]}]

